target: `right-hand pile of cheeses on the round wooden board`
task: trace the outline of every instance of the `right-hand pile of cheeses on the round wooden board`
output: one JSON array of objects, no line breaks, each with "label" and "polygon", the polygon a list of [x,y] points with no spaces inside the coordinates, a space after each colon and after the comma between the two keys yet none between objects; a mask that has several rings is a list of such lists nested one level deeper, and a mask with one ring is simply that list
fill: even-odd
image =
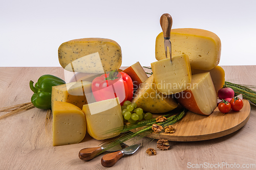
[{"label": "right-hand pile of cheeses on the round wooden board", "polygon": [[[153,75],[140,85],[133,102],[145,111],[162,113],[177,107],[177,101],[189,111],[209,115],[217,106],[217,92],[225,82],[224,70],[218,66],[221,41],[216,34],[201,29],[173,29],[170,35],[172,63],[165,59],[161,32],[155,54],[161,62],[151,64]],[[181,76],[175,77],[178,74]],[[178,83],[168,86],[173,84],[159,80]]]}]

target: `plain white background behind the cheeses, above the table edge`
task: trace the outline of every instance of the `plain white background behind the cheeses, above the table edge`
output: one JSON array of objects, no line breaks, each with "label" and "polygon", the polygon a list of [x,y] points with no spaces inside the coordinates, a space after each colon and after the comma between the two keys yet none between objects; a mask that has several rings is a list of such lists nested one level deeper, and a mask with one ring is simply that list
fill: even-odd
[{"label": "plain white background behind the cheeses, above the table edge", "polygon": [[256,65],[256,1],[8,0],[0,3],[0,66],[60,66],[62,42],[101,37],[117,41],[122,66],[155,59],[163,13],[172,28],[199,28],[222,42],[219,65]]}]

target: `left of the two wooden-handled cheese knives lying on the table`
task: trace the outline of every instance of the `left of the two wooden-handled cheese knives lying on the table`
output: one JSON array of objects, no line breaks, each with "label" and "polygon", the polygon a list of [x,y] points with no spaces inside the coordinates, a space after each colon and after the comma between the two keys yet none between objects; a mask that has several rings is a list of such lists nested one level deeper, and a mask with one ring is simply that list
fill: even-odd
[{"label": "left of the two wooden-handled cheese knives lying on the table", "polygon": [[[84,148],[82,150],[79,151],[79,158],[82,160],[91,160],[93,158],[95,158],[96,156],[99,155],[99,153],[104,150],[109,143],[104,143],[101,145],[101,147],[94,147],[94,148]],[[116,152],[116,151],[120,151],[124,148],[129,147],[129,145],[121,142],[120,144],[115,145],[115,147],[112,147],[106,151],[108,152]]]}]

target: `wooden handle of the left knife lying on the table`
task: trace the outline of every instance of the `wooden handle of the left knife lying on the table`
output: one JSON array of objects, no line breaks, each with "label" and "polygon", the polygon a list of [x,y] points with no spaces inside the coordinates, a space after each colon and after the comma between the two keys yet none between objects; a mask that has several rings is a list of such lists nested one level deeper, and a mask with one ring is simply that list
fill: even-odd
[{"label": "wooden handle of the left knife lying on the table", "polygon": [[79,151],[79,158],[82,160],[91,160],[101,151],[102,147],[84,148]]}]

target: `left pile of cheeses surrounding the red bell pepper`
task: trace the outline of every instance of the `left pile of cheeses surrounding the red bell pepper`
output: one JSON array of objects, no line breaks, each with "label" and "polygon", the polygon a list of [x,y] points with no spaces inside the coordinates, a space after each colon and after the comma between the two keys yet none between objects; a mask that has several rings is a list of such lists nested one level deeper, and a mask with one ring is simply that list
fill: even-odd
[{"label": "left pile of cheeses surrounding the red bell pepper", "polygon": [[[70,83],[52,87],[53,145],[78,143],[86,132],[97,140],[119,135],[108,133],[123,126],[119,99],[96,102],[91,86],[104,72],[122,71],[120,45],[104,38],[75,39],[59,46],[58,57],[64,69],[76,74]],[[123,72],[135,89],[147,79],[139,62]]]}]

